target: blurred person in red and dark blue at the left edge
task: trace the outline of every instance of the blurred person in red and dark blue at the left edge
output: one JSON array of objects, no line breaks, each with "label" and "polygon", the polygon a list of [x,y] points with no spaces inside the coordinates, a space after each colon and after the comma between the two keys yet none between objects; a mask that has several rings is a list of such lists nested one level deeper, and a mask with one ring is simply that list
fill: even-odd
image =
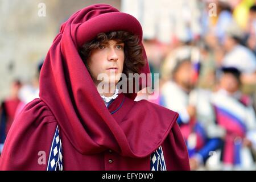
[{"label": "blurred person in red and dark blue at the left edge", "polygon": [[20,104],[18,93],[21,86],[22,84],[19,80],[14,80],[11,84],[10,96],[6,98],[1,104],[0,154],[2,153],[3,144],[5,143],[6,136],[9,133],[11,125],[13,124],[16,109]]}]

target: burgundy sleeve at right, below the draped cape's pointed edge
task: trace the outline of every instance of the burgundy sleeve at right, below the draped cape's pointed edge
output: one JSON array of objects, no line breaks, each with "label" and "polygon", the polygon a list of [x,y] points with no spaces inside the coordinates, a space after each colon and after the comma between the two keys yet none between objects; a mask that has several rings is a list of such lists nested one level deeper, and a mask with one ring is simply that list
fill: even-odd
[{"label": "burgundy sleeve at right, below the draped cape's pointed edge", "polygon": [[168,171],[189,171],[188,151],[177,122],[162,144],[164,161]]}]

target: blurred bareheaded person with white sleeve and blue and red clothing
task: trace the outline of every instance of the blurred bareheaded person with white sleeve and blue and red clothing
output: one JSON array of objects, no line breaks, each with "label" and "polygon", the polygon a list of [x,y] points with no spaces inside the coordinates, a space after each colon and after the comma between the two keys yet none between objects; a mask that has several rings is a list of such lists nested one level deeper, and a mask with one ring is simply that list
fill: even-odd
[{"label": "blurred bareheaded person with white sleeve and blue and red clothing", "polygon": [[[196,84],[195,77],[193,77],[195,68],[191,59],[177,59],[173,66],[172,81],[167,81],[161,88],[161,104],[179,113],[178,123],[188,147],[189,163],[191,169],[196,170],[202,168],[209,158],[209,152],[216,150],[221,140],[219,135],[210,135],[206,128],[209,125],[215,126],[213,119],[206,121],[203,120],[205,118],[200,118],[202,120],[198,120],[197,112],[202,110],[199,108],[201,105],[197,103],[199,100],[189,101],[192,100],[189,97]],[[204,99],[200,101],[209,103]],[[210,118],[208,114],[205,115]]]}]

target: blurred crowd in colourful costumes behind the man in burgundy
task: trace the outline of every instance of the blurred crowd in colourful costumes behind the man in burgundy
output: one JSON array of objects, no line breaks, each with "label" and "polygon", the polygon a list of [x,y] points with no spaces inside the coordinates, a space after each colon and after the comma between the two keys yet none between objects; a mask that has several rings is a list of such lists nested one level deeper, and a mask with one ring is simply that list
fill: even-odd
[{"label": "blurred crowd in colourful costumes behind the man in burgundy", "polygon": [[[129,13],[127,2],[122,7]],[[159,16],[163,23],[156,30],[150,11],[138,6],[142,14],[131,12],[142,22],[151,73],[160,77],[158,98],[151,102],[179,113],[191,169],[255,170],[256,1],[179,2],[180,11]],[[1,150],[15,115],[38,97],[38,76],[31,82],[15,80],[2,101]]]}]

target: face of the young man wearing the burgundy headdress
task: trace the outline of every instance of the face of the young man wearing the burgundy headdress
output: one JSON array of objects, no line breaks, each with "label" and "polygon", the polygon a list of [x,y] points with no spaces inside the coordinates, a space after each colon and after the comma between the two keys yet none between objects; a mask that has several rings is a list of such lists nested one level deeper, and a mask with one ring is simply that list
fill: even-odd
[{"label": "face of the young man wearing the burgundy headdress", "polygon": [[123,71],[124,46],[122,42],[109,40],[92,50],[88,59],[88,68],[94,84],[98,85],[101,82],[97,79],[101,73],[108,76],[108,80],[104,80],[105,83],[117,84],[121,76],[119,73]]}]

